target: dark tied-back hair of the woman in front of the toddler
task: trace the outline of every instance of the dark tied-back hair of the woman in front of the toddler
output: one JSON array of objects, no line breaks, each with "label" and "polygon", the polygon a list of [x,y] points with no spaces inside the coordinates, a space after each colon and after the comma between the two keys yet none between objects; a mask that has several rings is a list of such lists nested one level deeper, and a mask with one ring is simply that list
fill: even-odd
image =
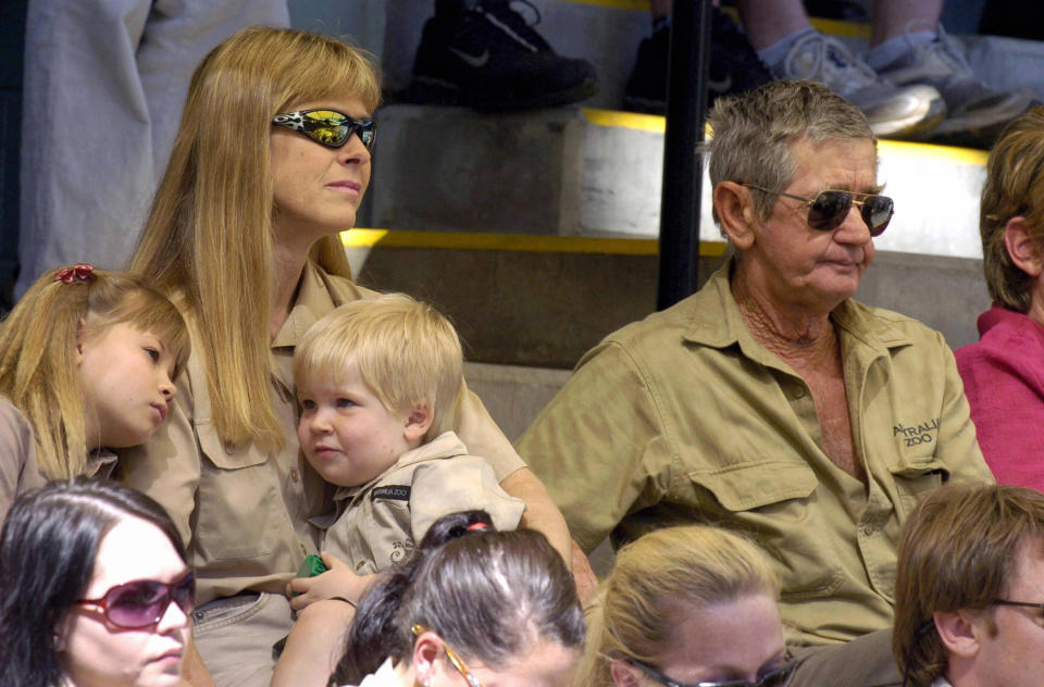
[{"label": "dark tied-back hair of the woman in front of the toddler", "polygon": [[359,604],[331,685],[359,684],[385,658],[410,663],[411,626],[437,633],[464,661],[501,667],[534,637],[580,649],[584,614],[573,577],[544,535],[496,532],[485,511],[435,521],[405,565]]}]

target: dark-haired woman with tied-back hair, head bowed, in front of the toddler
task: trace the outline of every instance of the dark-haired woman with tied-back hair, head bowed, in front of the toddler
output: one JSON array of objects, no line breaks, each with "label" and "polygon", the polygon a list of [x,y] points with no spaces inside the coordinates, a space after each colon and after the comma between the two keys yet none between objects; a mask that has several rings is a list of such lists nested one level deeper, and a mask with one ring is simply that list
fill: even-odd
[{"label": "dark-haired woman with tied-back hair, head bowed, in front of the toddler", "polygon": [[435,521],[359,604],[331,687],[569,687],[584,641],[572,577],[543,535],[492,523]]}]

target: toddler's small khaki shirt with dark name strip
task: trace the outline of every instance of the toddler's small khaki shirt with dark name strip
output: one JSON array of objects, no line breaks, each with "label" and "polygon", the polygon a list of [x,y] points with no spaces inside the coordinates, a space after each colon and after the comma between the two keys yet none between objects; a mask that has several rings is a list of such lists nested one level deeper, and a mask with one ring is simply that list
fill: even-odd
[{"label": "toddler's small khaki shirt with dark name strip", "polygon": [[443,515],[482,509],[506,532],[519,526],[525,510],[525,502],[508,496],[489,464],[468,455],[452,432],[403,453],[371,482],[337,489],[334,499],[340,514],[313,520],[326,529],[322,549],[359,575],[406,562]]}]

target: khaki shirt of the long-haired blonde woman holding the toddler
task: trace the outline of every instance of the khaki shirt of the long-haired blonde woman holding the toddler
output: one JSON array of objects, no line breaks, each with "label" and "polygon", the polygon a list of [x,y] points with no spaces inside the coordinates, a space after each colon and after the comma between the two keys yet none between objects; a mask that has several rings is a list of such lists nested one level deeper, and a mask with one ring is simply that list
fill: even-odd
[{"label": "khaki shirt of the long-haired blonde woman holding the toddler", "polygon": [[[167,421],[144,446],[123,453],[128,484],[166,509],[185,541],[197,604],[247,589],[284,594],[304,555],[318,552],[320,533],[308,520],[332,510],[333,489],[298,447],[294,347],[337,305],[373,295],[306,264],[290,313],[272,342],[271,402],[285,428],[282,451],[222,442],[194,341]],[[465,395],[456,421],[457,432],[488,457],[498,479],[524,466],[473,394]]]}]

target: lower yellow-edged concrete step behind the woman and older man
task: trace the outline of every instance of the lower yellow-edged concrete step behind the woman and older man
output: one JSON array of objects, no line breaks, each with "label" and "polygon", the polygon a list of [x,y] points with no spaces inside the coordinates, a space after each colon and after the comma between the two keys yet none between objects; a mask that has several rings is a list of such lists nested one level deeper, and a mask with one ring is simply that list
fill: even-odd
[{"label": "lower yellow-edged concrete step behind the woman and older man", "polygon": [[[344,240],[360,283],[447,313],[472,362],[569,370],[656,308],[654,239],[352,229]],[[700,253],[703,282],[724,246]],[[978,340],[990,305],[981,261],[893,251],[878,252],[856,298],[924,322],[953,348]]]}]

